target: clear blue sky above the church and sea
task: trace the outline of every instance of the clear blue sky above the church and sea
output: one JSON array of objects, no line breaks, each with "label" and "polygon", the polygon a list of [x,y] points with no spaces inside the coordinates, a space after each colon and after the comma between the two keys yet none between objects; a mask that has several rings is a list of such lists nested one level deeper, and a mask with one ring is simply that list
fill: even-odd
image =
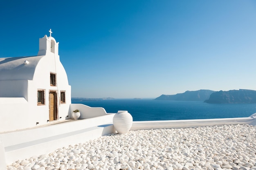
[{"label": "clear blue sky above the church and sea", "polygon": [[0,57],[59,42],[72,97],[256,90],[254,0],[1,0]]}]

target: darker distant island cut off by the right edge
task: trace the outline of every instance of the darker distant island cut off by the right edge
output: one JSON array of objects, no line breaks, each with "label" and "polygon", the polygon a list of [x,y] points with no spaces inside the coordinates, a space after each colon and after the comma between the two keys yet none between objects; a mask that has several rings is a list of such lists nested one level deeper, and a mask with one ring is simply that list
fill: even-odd
[{"label": "darker distant island cut off by the right edge", "polygon": [[254,90],[230,90],[212,93],[206,103],[211,104],[250,104],[256,103],[256,91]]}]

